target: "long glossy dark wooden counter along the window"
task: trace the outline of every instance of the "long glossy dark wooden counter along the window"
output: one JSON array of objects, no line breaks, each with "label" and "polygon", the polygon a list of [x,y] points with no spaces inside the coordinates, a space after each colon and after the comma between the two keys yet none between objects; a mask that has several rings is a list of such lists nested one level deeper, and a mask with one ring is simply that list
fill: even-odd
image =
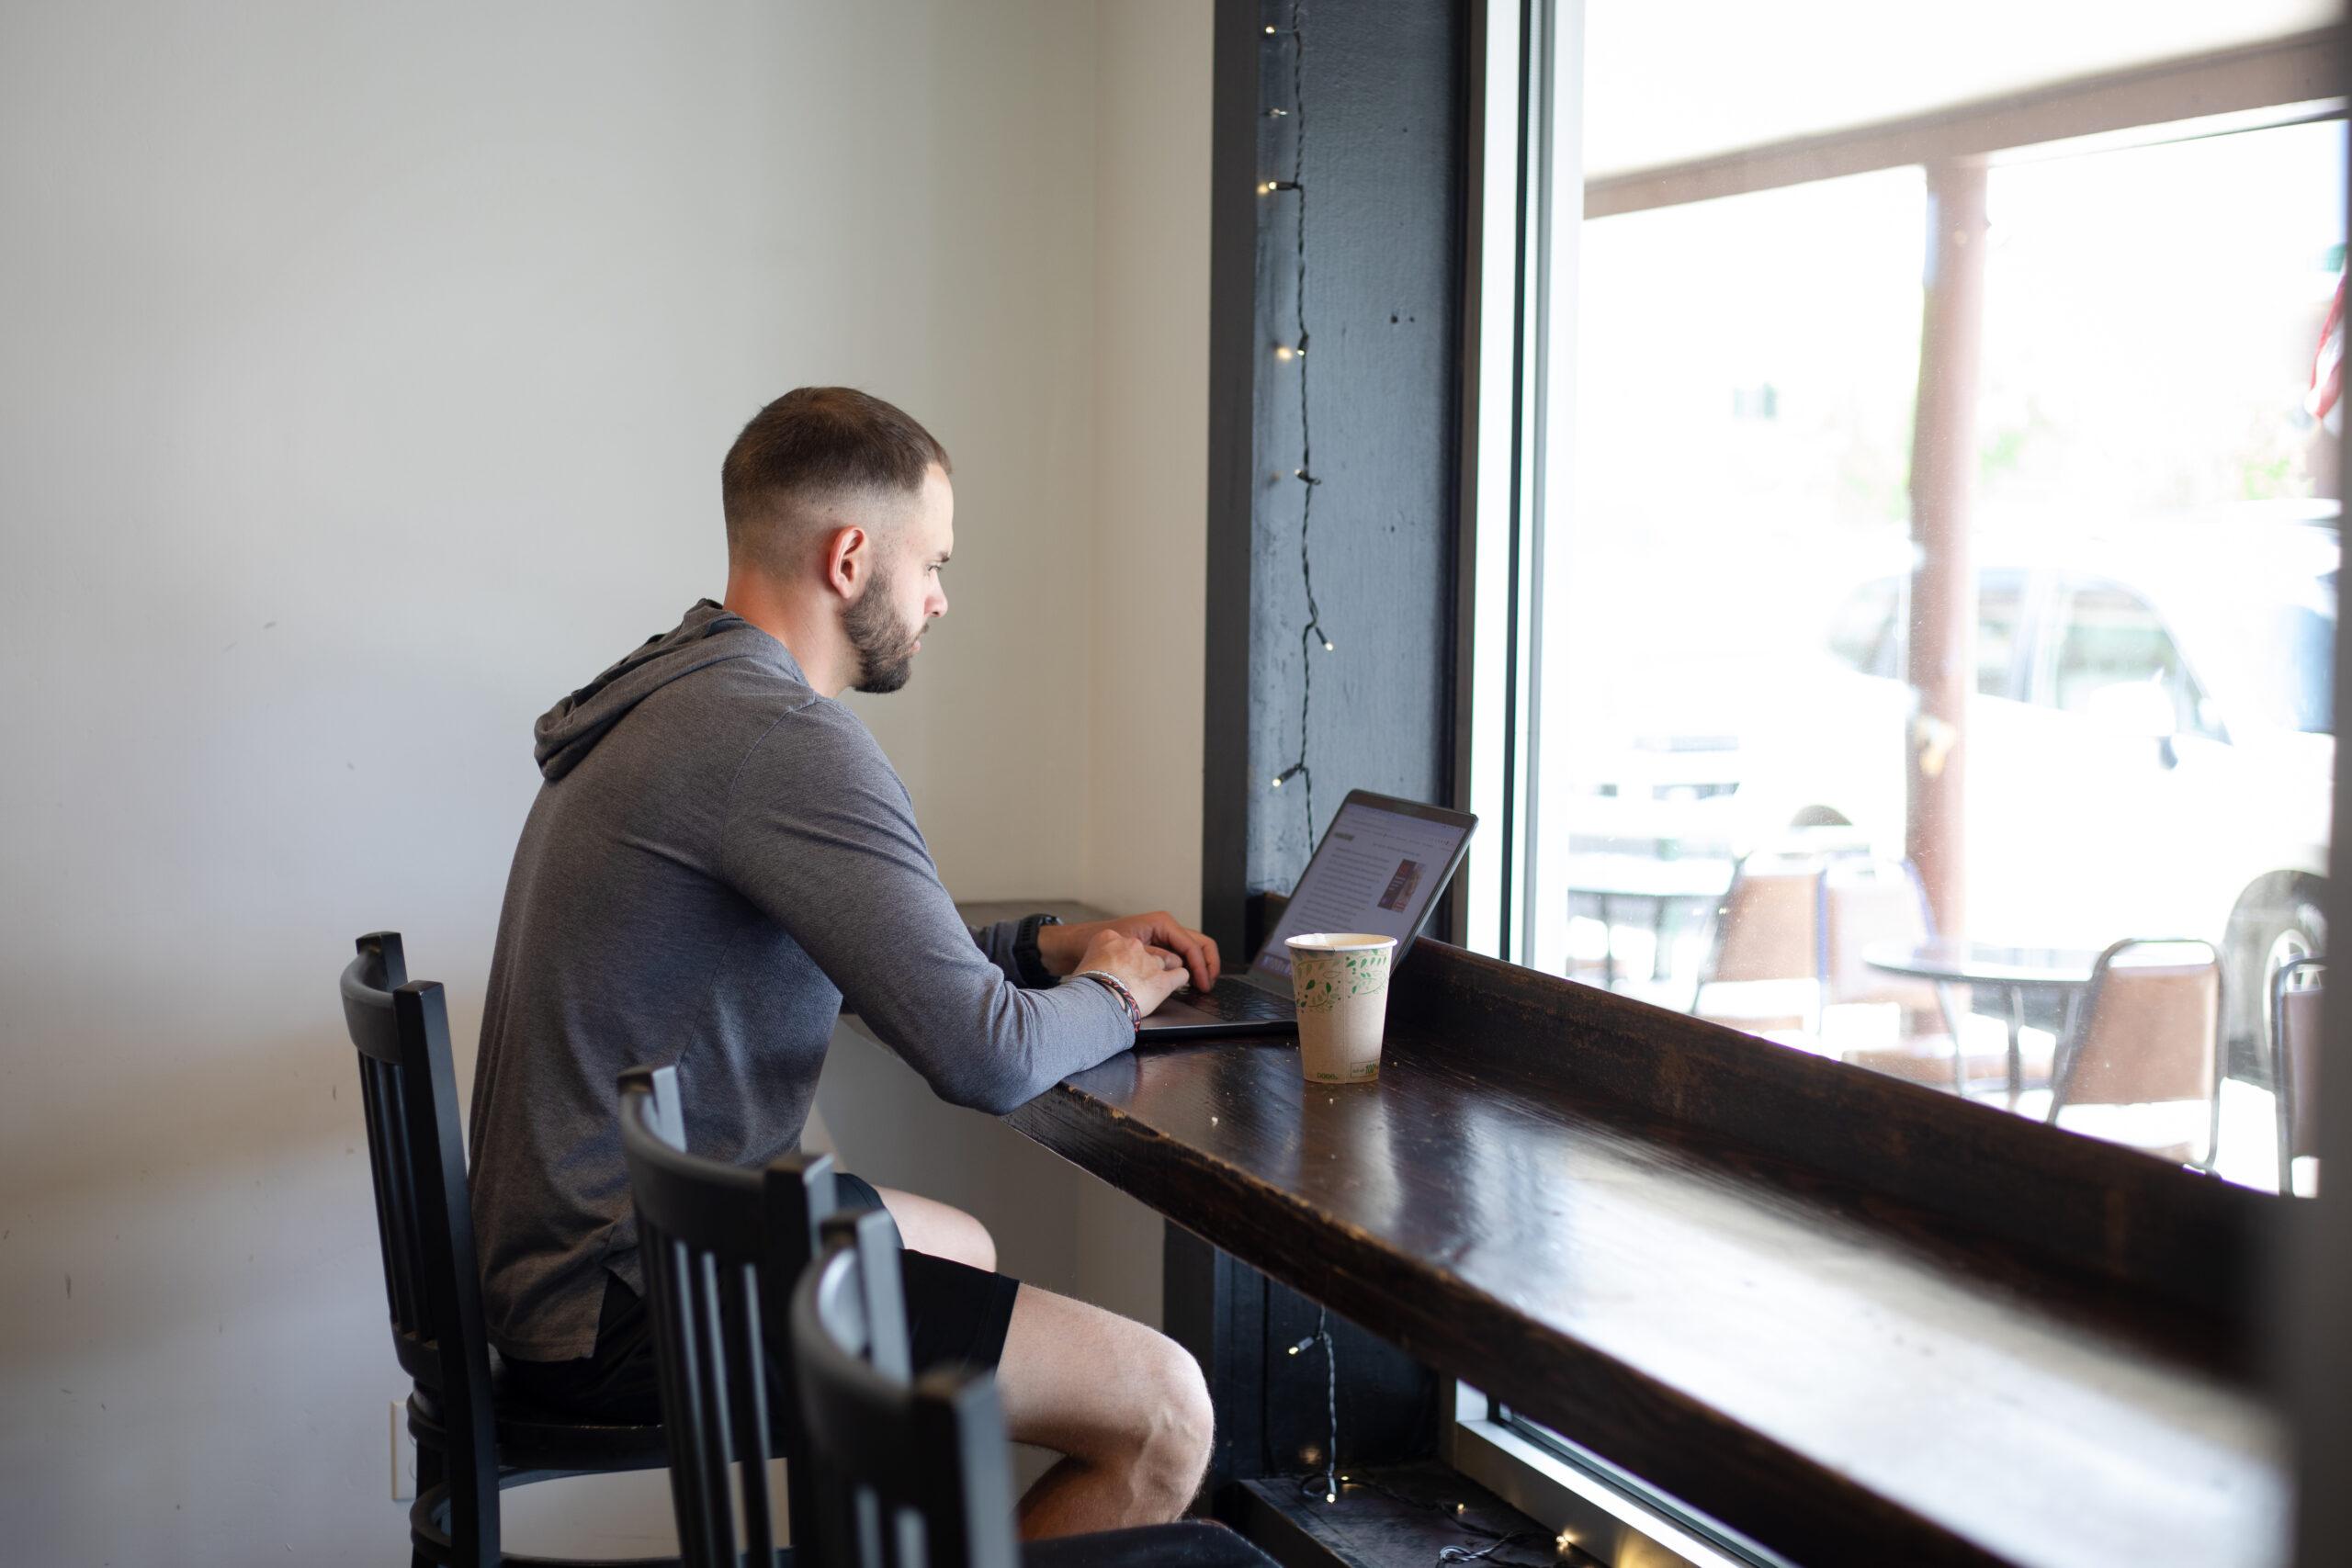
[{"label": "long glossy dark wooden counter along the window", "polygon": [[[1160,1046],[1011,1124],[1802,1563],[2277,1561],[2279,1425],[2211,1319],[1611,1100],[1604,1048],[1625,1048],[1644,1009],[1536,978],[1576,1018],[1501,1041],[1508,1009],[1446,1004],[1489,971],[1423,943],[1371,1086],[1303,1084],[1284,1041]],[[1997,1121],[1964,1131],[1999,1161]]]}]

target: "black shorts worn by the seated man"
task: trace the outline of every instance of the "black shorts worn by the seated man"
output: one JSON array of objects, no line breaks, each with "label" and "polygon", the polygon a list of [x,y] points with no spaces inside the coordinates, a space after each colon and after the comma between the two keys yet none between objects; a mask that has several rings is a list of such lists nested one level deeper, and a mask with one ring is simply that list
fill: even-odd
[{"label": "black shorts worn by the seated man", "polygon": [[[882,1208],[873,1182],[837,1171],[835,1199],[842,1208]],[[1021,1281],[988,1274],[929,1253],[898,1253],[906,1265],[906,1326],[915,1371],[969,1366],[993,1371],[1004,1356],[1004,1331],[1014,1321]],[[769,1354],[786,1354],[771,1345]],[[604,1276],[595,1352],[576,1361],[506,1361],[506,1387],[524,1401],[574,1420],[654,1425],[661,1420],[661,1382],[654,1373],[654,1321],[644,1298],[619,1276]]]}]

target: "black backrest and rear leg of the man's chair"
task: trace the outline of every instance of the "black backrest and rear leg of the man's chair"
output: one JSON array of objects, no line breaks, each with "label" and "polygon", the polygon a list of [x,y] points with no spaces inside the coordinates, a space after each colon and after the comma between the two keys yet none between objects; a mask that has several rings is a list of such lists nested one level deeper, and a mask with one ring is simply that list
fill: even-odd
[{"label": "black backrest and rear leg of the man's chair", "polygon": [[409,980],[397,931],[372,931],[358,947],[343,966],[343,1023],[360,1051],[393,1354],[447,1434],[452,1540],[499,1561],[496,1415],[449,1006],[440,985]]}]

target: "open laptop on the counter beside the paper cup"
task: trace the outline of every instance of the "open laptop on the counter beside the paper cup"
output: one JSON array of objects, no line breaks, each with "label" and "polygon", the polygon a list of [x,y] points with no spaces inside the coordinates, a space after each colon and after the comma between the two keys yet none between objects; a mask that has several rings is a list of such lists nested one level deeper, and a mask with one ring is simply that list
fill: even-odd
[{"label": "open laptop on the counter beside the paper cup", "polygon": [[1289,938],[1374,931],[1397,938],[1395,961],[1402,964],[1437,896],[1454,882],[1472,827],[1477,818],[1465,811],[1350,790],[1249,969],[1218,976],[1207,992],[1176,992],[1143,1020],[1136,1044],[1296,1032]]}]

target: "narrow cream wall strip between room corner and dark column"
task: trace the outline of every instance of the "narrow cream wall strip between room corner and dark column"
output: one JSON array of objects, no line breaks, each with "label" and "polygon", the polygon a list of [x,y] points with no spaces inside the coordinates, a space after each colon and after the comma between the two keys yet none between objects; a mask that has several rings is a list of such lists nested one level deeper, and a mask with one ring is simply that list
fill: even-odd
[{"label": "narrow cream wall strip between room corner and dark column", "polygon": [[[1098,26],[1094,811],[1080,893],[1197,922],[1211,7],[1103,0]],[[1160,1220],[1080,1182],[1075,1284],[1157,1324]]]}]

